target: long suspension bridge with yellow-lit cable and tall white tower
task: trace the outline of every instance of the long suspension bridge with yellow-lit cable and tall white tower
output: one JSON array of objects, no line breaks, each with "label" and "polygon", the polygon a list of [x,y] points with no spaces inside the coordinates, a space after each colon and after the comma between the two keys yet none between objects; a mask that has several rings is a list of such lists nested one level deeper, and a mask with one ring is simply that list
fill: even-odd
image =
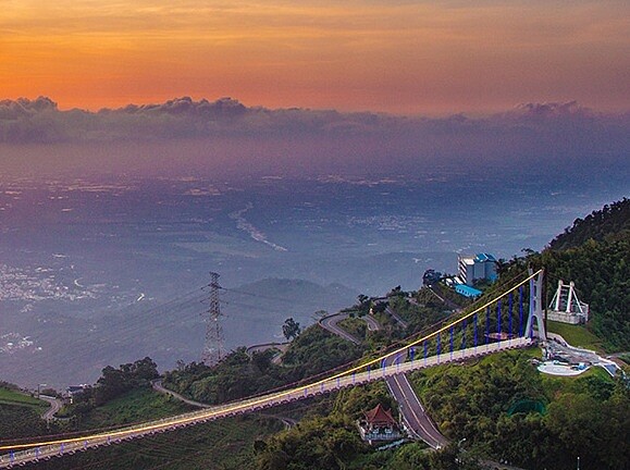
[{"label": "long suspension bridge with yellow-lit cable and tall white tower", "polygon": [[63,457],[103,445],[260,411],[417,369],[530,346],[535,337],[546,339],[542,310],[542,283],[543,271],[535,273],[530,271],[523,281],[432,333],[343,372],[304,385],[78,437],[39,442],[30,440],[32,442],[23,444],[0,442],[0,468],[12,468],[41,459]]}]

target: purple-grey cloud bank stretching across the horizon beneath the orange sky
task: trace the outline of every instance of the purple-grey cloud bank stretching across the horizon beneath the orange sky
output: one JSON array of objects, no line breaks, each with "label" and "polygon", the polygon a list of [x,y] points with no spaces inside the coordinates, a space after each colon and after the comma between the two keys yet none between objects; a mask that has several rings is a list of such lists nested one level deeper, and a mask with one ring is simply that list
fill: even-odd
[{"label": "purple-grey cloud bank stretching across the horizon beneath the orange sky", "polygon": [[110,149],[99,164],[103,158],[149,165],[159,160],[171,169],[180,163],[227,165],[236,173],[254,168],[295,174],[395,166],[417,171],[427,164],[459,164],[469,171],[541,162],[627,170],[630,113],[598,113],[570,101],[523,103],[484,118],[429,119],[272,110],[231,98],[188,97],[89,112],[60,111],[40,97],[0,101],[0,144],[17,156],[21,147],[32,145],[79,146],[84,162],[95,161],[90,154],[97,150]]}]

